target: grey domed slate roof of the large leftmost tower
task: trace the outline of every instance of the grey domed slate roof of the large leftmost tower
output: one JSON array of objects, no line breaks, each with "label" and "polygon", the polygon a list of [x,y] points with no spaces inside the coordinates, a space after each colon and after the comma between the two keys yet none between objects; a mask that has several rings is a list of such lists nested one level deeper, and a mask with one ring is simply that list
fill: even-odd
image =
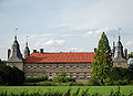
[{"label": "grey domed slate roof of the large leftmost tower", "polygon": [[11,47],[11,54],[8,58],[8,62],[23,62],[22,54],[20,52],[20,45],[17,41],[17,35]]}]

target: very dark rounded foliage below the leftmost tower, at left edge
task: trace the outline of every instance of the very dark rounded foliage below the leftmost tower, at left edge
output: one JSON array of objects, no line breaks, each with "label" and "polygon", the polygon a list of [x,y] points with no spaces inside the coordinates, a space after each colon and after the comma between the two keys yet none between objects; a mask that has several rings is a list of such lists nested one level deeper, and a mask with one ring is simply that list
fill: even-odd
[{"label": "very dark rounded foliage below the leftmost tower, at left edge", "polygon": [[7,66],[6,62],[0,63],[0,85],[21,85],[24,79],[24,73],[18,67]]}]

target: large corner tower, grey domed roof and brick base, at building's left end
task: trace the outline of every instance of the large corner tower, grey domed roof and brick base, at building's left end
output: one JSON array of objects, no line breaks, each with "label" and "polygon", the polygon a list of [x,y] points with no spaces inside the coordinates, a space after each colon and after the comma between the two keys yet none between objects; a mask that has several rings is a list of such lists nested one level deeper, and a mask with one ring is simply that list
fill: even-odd
[{"label": "large corner tower, grey domed roof and brick base, at building's left end", "polygon": [[8,52],[9,53],[8,53],[7,65],[17,66],[18,68],[20,68],[22,71],[23,70],[23,58],[22,58],[22,54],[20,52],[20,45],[17,41],[17,35],[14,36],[14,41],[13,41],[11,50],[9,50]]}]

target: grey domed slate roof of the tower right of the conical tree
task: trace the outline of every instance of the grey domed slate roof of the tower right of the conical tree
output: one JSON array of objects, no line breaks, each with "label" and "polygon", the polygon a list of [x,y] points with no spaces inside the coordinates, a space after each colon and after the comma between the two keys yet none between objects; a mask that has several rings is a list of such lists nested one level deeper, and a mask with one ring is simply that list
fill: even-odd
[{"label": "grey domed slate roof of the tower right of the conical tree", "polygon": [[123,54],[123,45],[121,43],[121,36],[119,36],[119,42],[116,43],[115,46],[113,61],[126,61]]}]

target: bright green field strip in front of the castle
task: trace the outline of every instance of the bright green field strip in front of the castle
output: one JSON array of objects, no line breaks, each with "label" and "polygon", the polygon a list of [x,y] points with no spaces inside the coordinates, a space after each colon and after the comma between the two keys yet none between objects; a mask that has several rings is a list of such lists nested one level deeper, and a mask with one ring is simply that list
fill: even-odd
[{"label": "bright green field strip in front of the castle", "polygon": [[[11,93],[20,94],[22,92],[34,93],[39,92],[41,94],[45,92],[63,92],[65,93],[71,88],[72,93],[75,93],[80,88],[80,93],[89,88],[90,94],[99,93],[102,96],[108,96],[111,93],[111,89],[117,90],[119,86],[0,86],[0,93],[8,92],[8,95]],[[120,90],[124,95],[129,95],[133,92],[133,86],[121,86]]]}]

